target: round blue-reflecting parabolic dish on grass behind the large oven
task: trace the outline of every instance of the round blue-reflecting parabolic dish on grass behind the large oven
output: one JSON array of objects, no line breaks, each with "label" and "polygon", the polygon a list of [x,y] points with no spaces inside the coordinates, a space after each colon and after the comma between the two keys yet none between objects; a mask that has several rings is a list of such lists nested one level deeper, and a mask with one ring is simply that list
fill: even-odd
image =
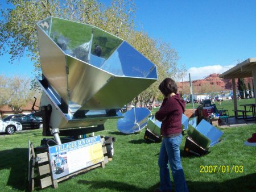
[{"label": "round blue-reflecting parabolic dish on grass behind the large oven", "polygon": [[132,108],[118,119],[117,128],[122,133],[134,133],[142,130],[147,125],[148,116],[151,115],[147,108]]}]

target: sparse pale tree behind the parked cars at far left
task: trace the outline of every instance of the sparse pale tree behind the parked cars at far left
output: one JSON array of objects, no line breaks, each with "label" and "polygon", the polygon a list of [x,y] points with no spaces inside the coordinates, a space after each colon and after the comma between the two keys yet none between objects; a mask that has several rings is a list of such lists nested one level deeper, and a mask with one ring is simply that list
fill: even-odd
[{"label": "sparse pale tree behind the parked cars at far left", "polygon": [[[5,77],[3,75],[0,78],[0,105],[8,105],[14,114],[22,112],[22,108],[27,106],[35,96],[35,92],[30,90],[30,79],[18,76]],[[2,95],[5,95],[5,97],[2,97]]]}]

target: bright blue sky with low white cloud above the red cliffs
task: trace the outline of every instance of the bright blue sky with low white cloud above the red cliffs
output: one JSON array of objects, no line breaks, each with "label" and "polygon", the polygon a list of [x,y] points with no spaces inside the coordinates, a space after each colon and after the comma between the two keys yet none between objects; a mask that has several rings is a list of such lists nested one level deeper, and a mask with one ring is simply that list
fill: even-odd
[{"label": "bright blue sky with low white cloud above the red cliffs", "polygon": [[[109,5],[111,0],[100,0]],[[256,57],[256,1],[252,0],[134,0],[137,30],[170,43],[184,64],[188,80],[223,73]],[[0,56],[0,73],[32,76],[31,61],[24,57],[11,65]],[[180,80],[181,81],[181,80]]]}]

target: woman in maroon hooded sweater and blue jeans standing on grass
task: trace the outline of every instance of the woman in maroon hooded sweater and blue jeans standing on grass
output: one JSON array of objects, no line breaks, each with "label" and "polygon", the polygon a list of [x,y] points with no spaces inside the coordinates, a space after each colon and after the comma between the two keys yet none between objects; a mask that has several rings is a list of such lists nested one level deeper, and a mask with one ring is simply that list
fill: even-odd
[{"label": "woman in maroon hooded sweater and blue jeans standing on grass", "polygon": [[185,111],[185,102],[177,94],[176,82],[171,78],[163,80],[158,88],[164,99],[162,106],[155,114],[155,118],[162,122],[161,135],[163,136],[158,160],[160,187],[156,191],[171,191],[168,162],[174,178],[175,191],[188,191],[180,161],[181,118]]}]

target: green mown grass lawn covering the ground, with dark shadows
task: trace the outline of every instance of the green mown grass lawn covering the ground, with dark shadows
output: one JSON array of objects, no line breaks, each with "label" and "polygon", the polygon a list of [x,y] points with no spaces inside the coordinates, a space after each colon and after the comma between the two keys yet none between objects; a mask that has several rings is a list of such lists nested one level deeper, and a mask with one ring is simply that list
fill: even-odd
[{"label": "green mown grass lawn covering the ground, with dark shadows", "polygon": [[[42,191],[154,191],[159,186],[157,162],[160,144],[147,143],[143,139],[144,130],[125,135],[117,130],[116,122],[108,120],[105,130],[96,132],[96,135],[112,135],[116,138],[113,161],[106,164],[105,169],[90,170],[60,182],[57,189],[47,187]],[[255,191],[256,150],[243,143],[251,137],[251,133],[256,132],[256,125],[220,130],[224,132],[225,140],[201,157],[183,152],[184,135],[180,150],[189,191]],[[42,130],[0,135],[2,191],[27,190],[28,140],[36,147],[40,145],[41,139]],[[205,173],[208,168],[213,168],[212,173]]]}]

